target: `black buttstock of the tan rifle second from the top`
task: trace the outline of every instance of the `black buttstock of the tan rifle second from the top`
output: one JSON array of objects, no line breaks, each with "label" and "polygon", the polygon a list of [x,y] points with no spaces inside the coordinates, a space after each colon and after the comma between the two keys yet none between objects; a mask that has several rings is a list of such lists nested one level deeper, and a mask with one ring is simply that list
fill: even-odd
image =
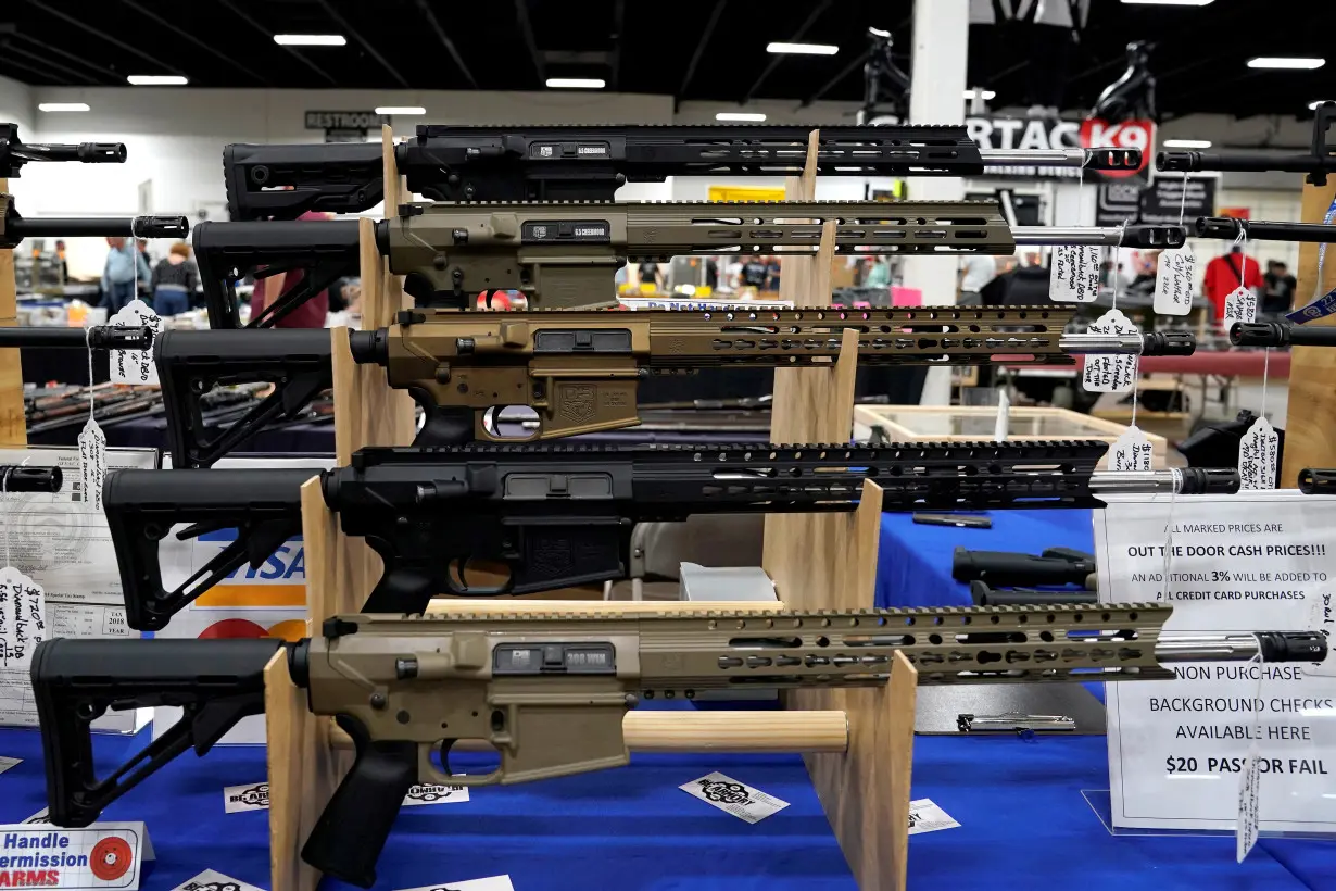
[{"label": "black buttstock of the tan rifle second from the top", "polygon": [[246,327],[273,327],[298,306],[359,270],[355,219],[266,223],[200,223],[192,243],[212,329],[240,327],[236,282],[302,271]]}]

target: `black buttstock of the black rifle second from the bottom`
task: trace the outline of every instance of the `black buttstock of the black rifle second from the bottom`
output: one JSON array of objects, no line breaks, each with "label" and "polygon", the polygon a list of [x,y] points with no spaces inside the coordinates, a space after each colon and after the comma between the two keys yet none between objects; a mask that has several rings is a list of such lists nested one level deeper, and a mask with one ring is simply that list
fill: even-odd
[{"label": "black buttstock of the black rifle second from the bottom", "polygon": [[[250,564],[258,568],[302,532],[301,486],[319,472],[112,470],[102,488],[107,528],[116,548],[126,622],[159,631],[187,604]],[[172,590],[163,586],[159,542],[174,526],[184,541],[236,529],[236,538]]]}]

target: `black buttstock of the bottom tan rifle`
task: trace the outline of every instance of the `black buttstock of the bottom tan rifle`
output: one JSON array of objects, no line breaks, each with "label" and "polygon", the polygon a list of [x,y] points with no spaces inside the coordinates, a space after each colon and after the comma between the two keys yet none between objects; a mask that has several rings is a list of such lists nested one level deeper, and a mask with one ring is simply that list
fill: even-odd
[{"label": "black buttstock of the bottom tan rifle", "polygon": [[[33,652],[47,804],[56,826],[94,823],[103,808],[186,749],[204,755],[236,723],[265,712],[265,665],[283,641],[55,639]],[[91,725],[107,711],[179,705],[166,733],[99,777]]]}]

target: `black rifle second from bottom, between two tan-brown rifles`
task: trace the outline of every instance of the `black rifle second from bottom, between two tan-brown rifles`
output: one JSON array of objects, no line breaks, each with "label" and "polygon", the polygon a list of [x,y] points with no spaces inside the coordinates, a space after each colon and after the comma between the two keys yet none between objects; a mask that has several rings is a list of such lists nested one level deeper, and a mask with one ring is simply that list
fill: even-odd
[{"label": "black rifle second from bottom, between two tan-brown rifles", "polygon": [[[342,529],[385,562],[369,612],[422,612],[438,593],[520,594],[620,578],[631,526],[695,513],[852,510],[862,482],[890,510],[1098,506],[1106,492],[1230,492],[1233,472],[1094,473],[1102,442],[494,446],[363,449],[325,472]],[[261,565],[301,530],[311,470],[118,470],[103,506],[131,628],[154,631],[244,564]],[[218,529],[236,541],[167,590],[159,542]],[[470,561],[500,562],[505,584],[473,586]]]}]

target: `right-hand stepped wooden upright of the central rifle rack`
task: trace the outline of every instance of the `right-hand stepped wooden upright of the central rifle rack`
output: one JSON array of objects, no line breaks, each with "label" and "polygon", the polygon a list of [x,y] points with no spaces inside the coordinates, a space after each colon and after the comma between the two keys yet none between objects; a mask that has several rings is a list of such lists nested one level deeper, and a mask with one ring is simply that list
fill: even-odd
[{"label": "right-hand stepped wooden upright of the central rifle rack", "polygon": [[[816,132],[807,144],[807,168],[788,178],[790,199],[812,200]],[[812,256],[782,259],[780,297],[798,309],[830,305],[835,223],[827,220]],[[848,442],[854,427],[858,335],[846,330],[831,369],[778,369],[771,406],[774,442]],[[791,609],[866,609],[874,605],[882,489],[863,482],[852,514],[771,514],[766,517],[762,566]],[[792,691],[787,704],[843,711],[847,752],[807,753],[807,772],[835,831],[844,859],[864,891],[900,891],[908,859],[910,768],[914,755],[914,701],[918,672],[896,653],[883,688]]]}]

